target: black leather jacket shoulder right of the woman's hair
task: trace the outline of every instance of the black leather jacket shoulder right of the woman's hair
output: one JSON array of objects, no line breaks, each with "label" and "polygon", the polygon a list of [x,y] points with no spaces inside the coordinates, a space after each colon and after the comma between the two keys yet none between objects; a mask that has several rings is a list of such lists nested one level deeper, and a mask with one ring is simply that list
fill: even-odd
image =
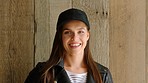
[{"label": "black leather jacket shoulder right of the woman's hair", "polygon": [[97,64],[99,72],[100,72],[100,74],[102,76],[103,83],[113,83],[112,75],[110,73],[110,70],[107,67],[101,65],[100,63],[96,62],[96,64]]}]

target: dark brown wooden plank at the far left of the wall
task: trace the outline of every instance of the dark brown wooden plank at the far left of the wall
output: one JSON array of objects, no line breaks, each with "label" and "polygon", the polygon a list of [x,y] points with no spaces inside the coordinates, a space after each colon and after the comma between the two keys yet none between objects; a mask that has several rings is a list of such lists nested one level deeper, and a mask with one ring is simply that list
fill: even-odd
[{"label": "dark brown wooden plank at the far left of the wall", "polygon": [[33,67],[33,0],[0,0],[0,83],[23,83]]}]

